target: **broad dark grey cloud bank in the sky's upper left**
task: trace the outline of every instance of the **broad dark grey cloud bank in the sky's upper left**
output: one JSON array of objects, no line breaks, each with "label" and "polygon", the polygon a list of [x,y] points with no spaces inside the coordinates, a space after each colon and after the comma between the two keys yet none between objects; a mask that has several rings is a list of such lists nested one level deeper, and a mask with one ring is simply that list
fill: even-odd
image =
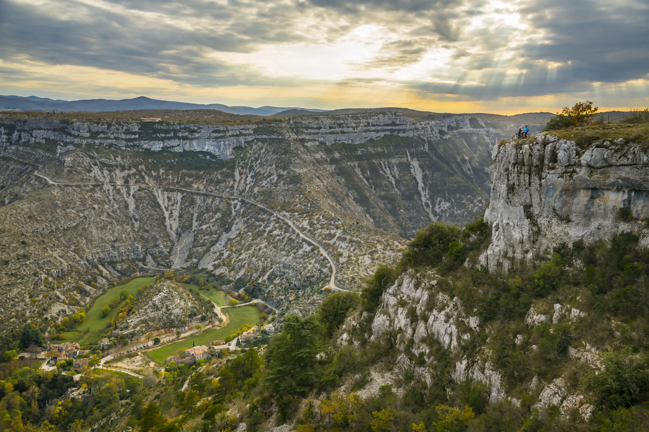
[{"label": "broad dark grey cloud bank in the sky's upper left", "polygon": [[[90,65],[207,86],[269,84],[263,76],[241,67],[234,71],[213,58],[206,59],[206,55],[212,51],[251,52],[262,42],[302,40],[286,27],[276,25],[276,19],[294,14],[282,8],[262,8],[252,22],[249,16],[239,21],[232,19],[233,10],[240,6],[236,4],[230,8],[191,1],[184,5],[164,1],[114,4],[138,13],[61,1],[60,16],[53,16],[32,5],[4,1],[0,57],[8,60],[27,56],[45,63]],[[139,12],[170,14],[188,19],[190,25],[199,22],[195,27],[176,26],[147,19]],[[219,21],[210,19],[210,27],[201,27],[201,20],[210,14],[218,16]],[[241,13],[237,15],[243,18]]]}]

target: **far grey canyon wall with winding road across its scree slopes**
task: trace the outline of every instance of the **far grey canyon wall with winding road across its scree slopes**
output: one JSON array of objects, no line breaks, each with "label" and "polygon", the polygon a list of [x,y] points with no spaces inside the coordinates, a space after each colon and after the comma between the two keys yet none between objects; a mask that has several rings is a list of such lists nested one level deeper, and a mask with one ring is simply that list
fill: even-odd
[{"label": "far grey canyon wall with winding road across its scree slopes", "polygon": [[[146,268],[213,271],[232,290],[311,310],[328,262],[272,212],[228,197],[293,220],[332,256],[337,283],[353,289],[399,255],[405,236],[483,211],[490,149],[506,128],[389,112],[241,124],[1,122],[5,311],[14,324],[56,317],[64,308],[54,304],[81,306],[101,292],[77,292],[79,281],[101,287]],[[45,275],[60,284],[56,294]]]}]

